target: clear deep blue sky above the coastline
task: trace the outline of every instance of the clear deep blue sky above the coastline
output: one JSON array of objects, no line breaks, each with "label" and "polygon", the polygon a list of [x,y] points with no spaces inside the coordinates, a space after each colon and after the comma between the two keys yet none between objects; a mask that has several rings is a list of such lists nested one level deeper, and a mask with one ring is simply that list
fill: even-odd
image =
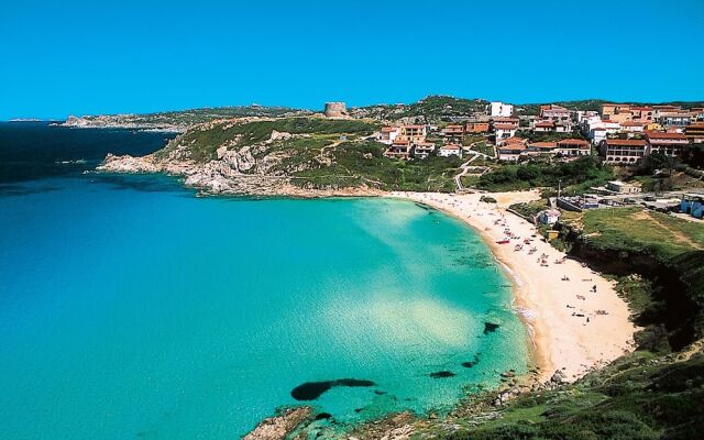
[{"label": "clear deep blue sky above the coastline", "polygon": [[704,1],[7,1],[0,119],[430,94],[704,100]]}]

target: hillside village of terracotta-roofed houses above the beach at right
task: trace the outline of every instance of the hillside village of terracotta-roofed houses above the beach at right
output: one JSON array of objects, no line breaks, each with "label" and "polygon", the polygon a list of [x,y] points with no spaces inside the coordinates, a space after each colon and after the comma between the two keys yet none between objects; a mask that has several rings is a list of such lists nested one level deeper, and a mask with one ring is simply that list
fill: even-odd
[{"label": "hillside village of terracotta-roofed houses above the beach at right", "polygon": [[[490,166],[472,163],[527,164],[570,163],[593,156],[598,163],[623,169],[620,175],[637,173],[650,165],[667,173],[693,155],[692,146],[704,143],[704,108],[684,109],[674,105],[636,106],[603,103],[601,111],[571,110],[558,105],[542,105],[539,114],[525,116],[517,106],[490,102],[484,111],[469,114],[463,121],[448,123],[389,124],[376,133],[376,141],[387,145],[389,158],[414,161],[430,155],[460,157],[464,173],[488,173]],[[671,169],[670,169],[671,172]],[[693,178],[704,173],[688,168]],[[463,190],[458,178],[458,189]],[[557,194],[550,199],[553,209],[540,211],[536,220],[554,223],[560,208],[581,212],[587,209],[639,205],[661,211],[685,213],[690,219],[704,216],[704,191],[697,188],[644,190],[639,182],[613,179],[580,194]],[[691,216],[691,217],[690,217]]]}]

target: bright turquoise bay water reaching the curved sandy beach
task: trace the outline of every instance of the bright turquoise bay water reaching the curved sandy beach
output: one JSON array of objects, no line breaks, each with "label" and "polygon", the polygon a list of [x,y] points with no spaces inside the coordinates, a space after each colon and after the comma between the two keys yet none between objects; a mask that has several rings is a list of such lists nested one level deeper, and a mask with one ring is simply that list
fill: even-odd
[{"label": "bright turquoise bay water reaching the curved sandy beach", "polygon": [[440,212],[154,176],[24,188],[0,197],[2,439],[232,439],[308,381],[376,383],[312,402],[355,421],[527,369],[508,282]]}]

